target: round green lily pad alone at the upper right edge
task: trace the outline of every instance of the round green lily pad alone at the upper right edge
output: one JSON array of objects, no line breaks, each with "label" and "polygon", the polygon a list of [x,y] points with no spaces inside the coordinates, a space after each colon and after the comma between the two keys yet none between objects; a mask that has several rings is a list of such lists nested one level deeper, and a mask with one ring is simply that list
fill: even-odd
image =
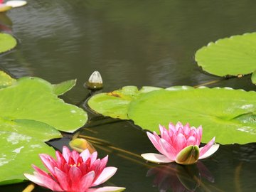
[{"label": "round green lily pad alone at the upper right edge", "polygon": [[223,38],[196,52],[196,61],[208,73],[246,75],[256,70],[256,33]]}]

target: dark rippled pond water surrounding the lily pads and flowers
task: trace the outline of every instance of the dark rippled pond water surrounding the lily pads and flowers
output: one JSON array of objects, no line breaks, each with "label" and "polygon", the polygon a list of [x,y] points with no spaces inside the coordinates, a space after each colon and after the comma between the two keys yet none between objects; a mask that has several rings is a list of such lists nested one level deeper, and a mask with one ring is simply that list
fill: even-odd
[{"label": "dark rippled pond water surrounding the lily pads and flowers", "polygon": [[[132,122],[93,114],[82,85],[100,71],[104,92],[126,85],[202,85],[256,90],[250,77],[223,79],[203,73],[194,61],[210,41],[256,31],[256,1],[41,0],[0,14],[0,30],[18,46],[0,55],[0,69],[15,78],[37,76],[52,83],[78,79],[63,100],[89,112],[78,132],[118,171],[106,184],[126,191],[253,191],[256,143],[221,145],[196,166],[146,163],[139,154],[156,151]],[[61,149],[72,135],[50,142]],[[228,136],[227,136],[228,137]],[[252,169],[253,168],[253,169]],[[1,186],[22,191],[28,183]],[[47,191],[36,187],[34,191]]]}]

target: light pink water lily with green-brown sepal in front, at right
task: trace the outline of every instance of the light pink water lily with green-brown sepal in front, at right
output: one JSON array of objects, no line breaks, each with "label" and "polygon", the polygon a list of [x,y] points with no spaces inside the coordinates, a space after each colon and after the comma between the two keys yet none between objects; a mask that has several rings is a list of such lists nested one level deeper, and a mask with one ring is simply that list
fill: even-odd
[{"label": "light pink water lily with green-brown sepal in front, at right", "polygon": [[215,137],[203,147],[199,148],[203,129],[202,127],[190,127],[189,124],[183,126],[178,122],[176,126],[169,124],[169,130],[159,125],[161,137],[156,132],[151,134],[146,132],[154,147],[161,154],[142,154],[142,157],[154,163],[170,163],[176,161],[178,164],[194,164],[198,159],[215,153],[219,144],[214,144]]}]

